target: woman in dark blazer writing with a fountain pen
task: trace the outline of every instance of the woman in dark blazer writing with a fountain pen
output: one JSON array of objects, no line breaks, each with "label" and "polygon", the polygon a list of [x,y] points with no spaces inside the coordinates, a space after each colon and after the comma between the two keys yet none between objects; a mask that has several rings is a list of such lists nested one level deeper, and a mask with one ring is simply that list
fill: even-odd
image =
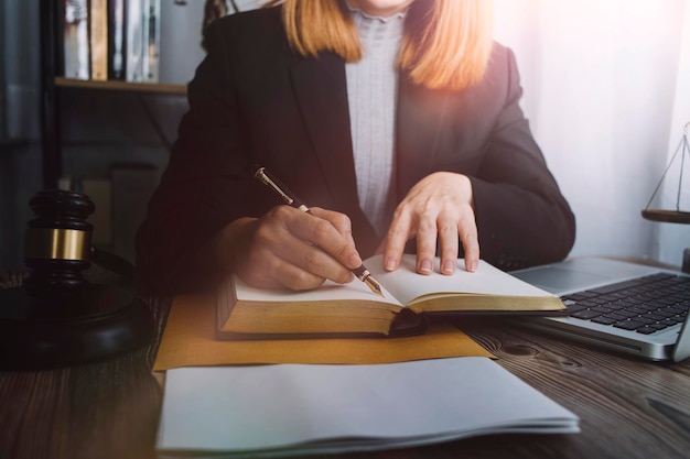
[{"label": "woman in dark blazer writing with a fountain pen", "polygon": [[[138,233],[144,289],[201,288],[229,272],[313,288],[352,281],[376,251],[395,270],[406,247],[421,274],[435,254],[449,274],[459,255],[473,271],[479,256],[511,270],[569,253],[574,217],[518,105],[515,57],[490,40],[489,2],[277,3],[207,30]],[[389,68],[371,66],[391,46]],[[366,103],[391,114],[368,120]],[[313,215],[281,206],[252,164]]]}]

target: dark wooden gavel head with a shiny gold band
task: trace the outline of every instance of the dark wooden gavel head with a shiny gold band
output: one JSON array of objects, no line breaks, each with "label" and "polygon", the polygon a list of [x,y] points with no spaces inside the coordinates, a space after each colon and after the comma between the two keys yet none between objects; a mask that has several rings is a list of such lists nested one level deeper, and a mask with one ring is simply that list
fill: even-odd
[{"label": "dark wooden gavel head with a shiny gold band", "polygon": [[24,263],[31,274],[24,289],[40,298],[78,295],[88,284],[94,203],[80,193],[46,189],[29,201],[35,218],[26,223]]}]

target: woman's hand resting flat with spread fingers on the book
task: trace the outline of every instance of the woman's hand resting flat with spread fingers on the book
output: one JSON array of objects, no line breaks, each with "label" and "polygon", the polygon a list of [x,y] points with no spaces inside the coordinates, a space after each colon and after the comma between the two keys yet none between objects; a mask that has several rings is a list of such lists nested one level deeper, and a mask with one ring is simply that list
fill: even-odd
[{"label": "woman's hand resting flat with spread fingers on the book", "polygon": [[431,274],[436,240],[441,248],[441,273],[453,274],[459,244],[465,252],[465,269],[476,270],[479,243],[474,217],[472,183],[467,176],[436,172],[418,182],[402,199],[384,241],[384,266],[395,271],[407,241],[417,236],[417,272]]}]

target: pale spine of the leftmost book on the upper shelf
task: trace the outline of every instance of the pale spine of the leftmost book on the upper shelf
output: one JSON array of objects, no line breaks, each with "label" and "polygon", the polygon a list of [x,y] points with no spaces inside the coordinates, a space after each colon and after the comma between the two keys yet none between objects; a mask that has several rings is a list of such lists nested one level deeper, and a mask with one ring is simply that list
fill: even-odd
[{"label": "pale spine of the leftmost book on the upper shelf", "polygon": [[64,6],[64,75],[88,79],[88,0],[65,0]]}]

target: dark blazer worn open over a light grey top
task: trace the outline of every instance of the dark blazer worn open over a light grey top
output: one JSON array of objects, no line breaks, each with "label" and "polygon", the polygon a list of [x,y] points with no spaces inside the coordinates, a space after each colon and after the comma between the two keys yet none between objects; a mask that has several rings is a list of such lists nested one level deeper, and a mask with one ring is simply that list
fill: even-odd
[{"label": "dark blazer worn open over a light grey top", "polygon": [[[252,163],[309,205],[348,215],[364,258],[379,242],[357,199],[345,64],[332,53],[292,52],[280,8],[226,17],[208,30],[190,110],[138,234],[147,289],[174,293],[208,276],[190,263],[200,245],[234,219],[280,204],[251,178]],[[436,171],[470,176],[481,256],[504,270],[562,259],[574,241],[573,214],[520,96],[515,57],[498,44],[483,81],[470,89],[429,90],[399,78],[398,199]]]}]

